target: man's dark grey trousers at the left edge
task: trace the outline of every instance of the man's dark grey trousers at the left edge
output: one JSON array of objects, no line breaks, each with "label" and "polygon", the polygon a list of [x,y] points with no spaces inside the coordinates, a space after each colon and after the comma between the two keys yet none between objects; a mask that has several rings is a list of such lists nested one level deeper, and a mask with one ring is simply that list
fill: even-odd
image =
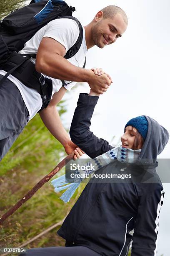
[{"label": "man's dark grey trousers at the left edge", "polygon": [[[0,79],[2,79],[0,74]],[[9,79],[0,85],[0,161],[28,123],[29,113],[20,91]]]}]

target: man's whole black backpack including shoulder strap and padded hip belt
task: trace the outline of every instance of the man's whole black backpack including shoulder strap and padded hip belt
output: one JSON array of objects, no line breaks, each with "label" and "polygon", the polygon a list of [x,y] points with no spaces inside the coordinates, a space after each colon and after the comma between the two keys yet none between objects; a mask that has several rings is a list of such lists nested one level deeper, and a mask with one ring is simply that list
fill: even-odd
[{"label": "man's whole black backpack including shoulder strap and padded hip belt", "polygon": [[[73,45],[65,54],[64,58],[69,59],[74,56],[80,49],[82,44],[83,30],[80,22],[72,17],[72,12],[75,11],[75,7],[68,6],[62,0],[32,0],[29,5],[15,10],[7,17],[1,20],[0,23],[0,69],[7,72],[5,76],[0,80],[0,85],[5,81],[7,76],[11,73],[14,74],[21,82],[28,87],[33,87],[42,97],[43,107],[47,107],[52,95],[52,81],[44,78],[42,74],[36,72],[35,65],[30,61],[30,57],[36,57],[33,54],[17,54],[22,50],[24,44],[32,38],[32,36],[43,26],[47,25],[51,20],[57,18],[70,18],[76,21],[79,26],[80,33]],[[11,58],[12,56],[12,58]],[[11,61],[12,60],[12,61]],[[30,62],[28,65],[28,61]],[[33,64],[33,66],[32,66]],[[32,77],[29,78],[32,82],[25,80],[23,72],[18,72],[18,68],[30,69]],[[85,67],[85,64],[84,66]],[[30,76],[31,76],[30,75]],[[35,79],[33,78],[35,77]],[[28,77],[28,76],[27,76]],[[50,82],[50,81],[51,82]],[[64,81],[62,81],[64,83]],[[33,85],[32,85],[33,84]],[[43,85],[43,88],[42,88]]]}]

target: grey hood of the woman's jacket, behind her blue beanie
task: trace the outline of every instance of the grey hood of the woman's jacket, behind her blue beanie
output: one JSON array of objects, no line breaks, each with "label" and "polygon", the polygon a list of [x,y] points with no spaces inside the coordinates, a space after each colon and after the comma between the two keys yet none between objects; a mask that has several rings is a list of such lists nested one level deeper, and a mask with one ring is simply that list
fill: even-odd
[{"label": "grey hood of the woman's jacket, behind her blue beanie", "polygon": [[157,121],[149,116],[145,116],[148,120],[148,133],[140,153],[140,161],[155,163],[157,156],[165,148],[168,139],[168,131]]}]

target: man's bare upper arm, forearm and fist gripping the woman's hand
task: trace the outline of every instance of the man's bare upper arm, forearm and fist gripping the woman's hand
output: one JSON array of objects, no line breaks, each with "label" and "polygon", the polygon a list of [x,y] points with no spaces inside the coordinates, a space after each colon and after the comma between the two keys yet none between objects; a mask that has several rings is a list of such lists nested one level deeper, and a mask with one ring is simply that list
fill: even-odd
[{"label": "man's bare upper arm, forearm and fist gripping the woman's hand", "polygon": [[49,37],[42,38],[36,56],[37,72],[61,80],[88,82],[92,90],[100,94],[106,91],[111,81],[105,74],[95,76],[92,70],[76,67],[63,57],[65,54],[62,44]]}]

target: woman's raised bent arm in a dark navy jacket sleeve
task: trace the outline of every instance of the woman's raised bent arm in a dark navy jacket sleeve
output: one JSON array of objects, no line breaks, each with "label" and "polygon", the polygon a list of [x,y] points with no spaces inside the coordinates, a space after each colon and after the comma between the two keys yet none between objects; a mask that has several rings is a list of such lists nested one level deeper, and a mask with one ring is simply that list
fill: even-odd
[{"label": "woman's raised bent arm in a dark navy jacket sleeve", "polygon": [[91,158],[100,156],[113,148],[104,139],[97,138],[89,128],[98,98],[93,92],[90,95],[80,93],[70,127],[71,140]]}]

